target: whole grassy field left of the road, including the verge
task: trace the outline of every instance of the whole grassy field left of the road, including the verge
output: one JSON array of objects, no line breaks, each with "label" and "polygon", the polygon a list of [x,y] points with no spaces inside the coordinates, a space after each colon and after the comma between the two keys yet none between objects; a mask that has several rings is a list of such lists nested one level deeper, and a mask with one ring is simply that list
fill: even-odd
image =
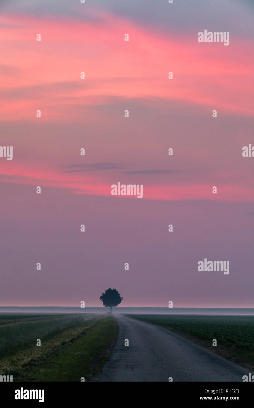
[{"label": "whole grassy field left of the road, including the verge", "polygon": [[112,315],[0,315],[0,375],[13,375],[13,381],[96,381],[118,330]]}]

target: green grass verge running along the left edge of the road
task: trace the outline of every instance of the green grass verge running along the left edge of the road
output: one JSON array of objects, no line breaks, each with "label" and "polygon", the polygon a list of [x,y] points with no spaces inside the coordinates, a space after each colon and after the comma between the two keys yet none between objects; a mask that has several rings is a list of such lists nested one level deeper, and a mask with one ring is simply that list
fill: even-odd
[{"label": "green grass verge running along the left edge of the road", "polygon": [[20,370],[13,381],[96,381],[118,335],[114,317],[104,316],[69,341],[51,348]]}]

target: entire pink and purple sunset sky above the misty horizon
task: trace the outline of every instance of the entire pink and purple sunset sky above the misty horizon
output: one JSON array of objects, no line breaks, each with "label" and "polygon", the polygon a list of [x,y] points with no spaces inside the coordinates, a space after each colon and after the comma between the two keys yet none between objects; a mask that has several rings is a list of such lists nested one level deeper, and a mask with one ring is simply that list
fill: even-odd
[{"label": "entire pink and purple sunset sky above the misty horizon", "polygon": [[[111,287],[126,307],[254,307],[253,14],[1,2],[0,306],[102,306]],[[143,197],[111,195],[118,182]],[[198,271],[205,258],[230,273]]]}]

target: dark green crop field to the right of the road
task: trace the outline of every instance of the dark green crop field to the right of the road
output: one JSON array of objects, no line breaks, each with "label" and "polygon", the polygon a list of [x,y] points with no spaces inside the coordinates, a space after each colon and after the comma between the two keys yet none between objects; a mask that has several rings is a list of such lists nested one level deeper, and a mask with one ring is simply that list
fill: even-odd
[{"label": "dark green crop field to the right of the road", "polygon": [[[125,315],[162,326],[230,359],[254,369],[253,316]],[[212,346],[213,339],[217,346]]]}]

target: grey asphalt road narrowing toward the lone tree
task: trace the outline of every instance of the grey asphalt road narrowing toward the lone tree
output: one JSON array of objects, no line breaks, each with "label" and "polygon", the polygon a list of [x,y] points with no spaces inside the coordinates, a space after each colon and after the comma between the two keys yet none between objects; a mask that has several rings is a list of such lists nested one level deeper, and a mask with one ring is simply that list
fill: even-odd
[{"label": "grey asphalt road narrowing toward the lone tree", "polygon": [[[170,330],[121,315],[117,342],[99,381],[243,381],[249,370]],[[125,339],[129,346],[124,346]]]}]

